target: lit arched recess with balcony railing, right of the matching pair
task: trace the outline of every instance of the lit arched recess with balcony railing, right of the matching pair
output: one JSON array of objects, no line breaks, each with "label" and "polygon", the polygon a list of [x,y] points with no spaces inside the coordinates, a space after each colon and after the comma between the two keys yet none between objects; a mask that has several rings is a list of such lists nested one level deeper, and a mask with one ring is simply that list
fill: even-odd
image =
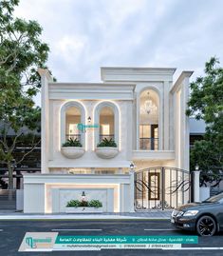
[{"label": "lit arched recess with balcony railing, right of the matching pair", "polygon": [[102,102],[95,108],[95,148],[103,138],[113,138],[118,148],[120,145],[120,112],[119,108],[112,102]]}]

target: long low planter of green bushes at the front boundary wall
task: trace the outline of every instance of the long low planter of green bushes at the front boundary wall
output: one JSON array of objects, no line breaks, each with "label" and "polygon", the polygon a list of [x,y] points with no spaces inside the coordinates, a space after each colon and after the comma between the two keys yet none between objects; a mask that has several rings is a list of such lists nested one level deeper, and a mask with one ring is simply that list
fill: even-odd
[{"label": "long low planter of green bushes at the front boundary wall", "polygon": [[79,200],[70,200],[67,202],[65,207],[66,213],[100,213],[102,212],[102,202],[99,200],[91,201],[79,201]]}]

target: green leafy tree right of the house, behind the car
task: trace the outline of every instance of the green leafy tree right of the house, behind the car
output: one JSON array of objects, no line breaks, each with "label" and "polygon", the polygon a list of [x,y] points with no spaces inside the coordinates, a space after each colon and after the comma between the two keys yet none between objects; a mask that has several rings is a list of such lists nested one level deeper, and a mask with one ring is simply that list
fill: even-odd
[{"label": "green leafy tree right of the house, behind the car", "polygon": [[216,58],[205,65],[205,75],[191,84],[188,115],[206,123],[204,139],[191,149],[191,169],[223,168],[223,69]]}]

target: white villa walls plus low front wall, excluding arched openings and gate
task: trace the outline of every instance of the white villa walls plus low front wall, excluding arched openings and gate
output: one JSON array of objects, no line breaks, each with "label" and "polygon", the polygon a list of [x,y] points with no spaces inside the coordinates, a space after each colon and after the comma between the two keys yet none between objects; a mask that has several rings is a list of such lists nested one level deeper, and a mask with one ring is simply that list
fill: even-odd
[{"label": "white villa walls plus low front wall, excluding arched openings and gate", "polygon": [[[192,72],[183,72],[173,85],[175,70],[102,68],[101,84],[63,84],[52,83],[48,72],[41,69],[42,174],[24,176],[24,212],[64,212],[67,201],[78,199],[82,191],[89,199],[100,199],[104,211],[134,211],[134,173],[93,174],[95,169],[121,173],[132,162],[136,170],[189,169],[189,122],[185,110]],[[158,93],[158,150],[139,150],[139,97],[145,89]],[[99,109],[113,106],[118,155],[99,158],[95,148],[100,131],[91,129],[82,135],[84,155],[66,158],[61,147],[65,142],[67,105],[81,108],[84,125],[88,125],[88,117],[92,125],[99,123]],[[72,168],[85,174],[68,174],[67,169]],[[89,170],[92,174],[86,174]]]}]

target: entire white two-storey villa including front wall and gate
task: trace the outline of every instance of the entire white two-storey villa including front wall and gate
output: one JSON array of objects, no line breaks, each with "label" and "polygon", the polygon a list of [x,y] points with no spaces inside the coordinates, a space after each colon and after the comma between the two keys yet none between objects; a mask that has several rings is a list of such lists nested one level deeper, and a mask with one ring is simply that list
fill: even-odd
[{"label": "entire white two-storey villa including front wall and gate", "polygon": [[[193,72],[173,83],[175,71],[102,68],[102,83],[58,83],[39,69],[42,172],[24,175],[24,212],[65,212],[83,194],[100,200],[103,212],[188,202]],[[81,144],[63,147],[68,139]],[[100,147],[104,139],[116,145]]]}]

